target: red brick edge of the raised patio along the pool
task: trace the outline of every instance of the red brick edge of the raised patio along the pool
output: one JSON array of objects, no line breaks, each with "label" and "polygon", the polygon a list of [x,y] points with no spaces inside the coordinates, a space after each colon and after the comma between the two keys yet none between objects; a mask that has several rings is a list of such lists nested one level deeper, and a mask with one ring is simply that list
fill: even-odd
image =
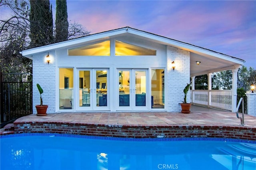
[{"label": "red brick edge of the raised patio along the pool", "polygon": [[14,131],[2,135],[19,133],[62,133],[73,135],[125,137],[125,138],[183,138],[210,137],[255,141],[255,127],[222,125],[105,125],[60,122],[14,122]]}]

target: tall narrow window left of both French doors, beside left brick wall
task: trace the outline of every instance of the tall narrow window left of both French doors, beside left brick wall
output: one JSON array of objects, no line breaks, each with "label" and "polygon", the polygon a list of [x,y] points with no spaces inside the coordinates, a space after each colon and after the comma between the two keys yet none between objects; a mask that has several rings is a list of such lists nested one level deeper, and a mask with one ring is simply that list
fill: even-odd
[{"label": "tall narrow window left of both French doors, beside left brick wall", "polygon": [[60,109],[73,109],[73,68],[60,68]]}]

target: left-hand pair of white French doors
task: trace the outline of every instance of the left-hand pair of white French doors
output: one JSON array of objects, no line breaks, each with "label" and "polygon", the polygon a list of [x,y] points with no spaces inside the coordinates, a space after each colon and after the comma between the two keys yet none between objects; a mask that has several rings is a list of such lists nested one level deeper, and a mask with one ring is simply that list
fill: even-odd
[{"label": "left-hand pair of white French doors", "polygon": [[108,74],[108,68],[77,70],[77,110],[109,110]]}]

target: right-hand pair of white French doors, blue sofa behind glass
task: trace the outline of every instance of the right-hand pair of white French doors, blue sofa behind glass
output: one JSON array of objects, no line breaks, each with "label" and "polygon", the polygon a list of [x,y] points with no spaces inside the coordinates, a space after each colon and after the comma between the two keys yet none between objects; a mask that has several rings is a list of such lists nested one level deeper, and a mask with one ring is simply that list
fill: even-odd
[{"label": "right-hand pair of white French doors, blue sofa behind glass", "polygon": [[148,69],[117,69],[117,110],[148,110]]}]

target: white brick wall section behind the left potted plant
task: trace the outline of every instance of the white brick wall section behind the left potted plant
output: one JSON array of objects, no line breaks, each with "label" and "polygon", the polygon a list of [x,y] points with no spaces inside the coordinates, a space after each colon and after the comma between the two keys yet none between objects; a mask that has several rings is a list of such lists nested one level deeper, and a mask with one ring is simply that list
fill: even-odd
[{"label": "white brick wall section behind the left potted plant", "polygon": [[40,105],[40,94],[36,84],[40,84],[44,93],[42,100],[48,105],[47,113],[55,113],[56,102],[56,63],[55,51],[49,52],[50,64],[46,62],[48,53],[40,53],[33,56],[33,113],[36,113],[36,105]]}]

